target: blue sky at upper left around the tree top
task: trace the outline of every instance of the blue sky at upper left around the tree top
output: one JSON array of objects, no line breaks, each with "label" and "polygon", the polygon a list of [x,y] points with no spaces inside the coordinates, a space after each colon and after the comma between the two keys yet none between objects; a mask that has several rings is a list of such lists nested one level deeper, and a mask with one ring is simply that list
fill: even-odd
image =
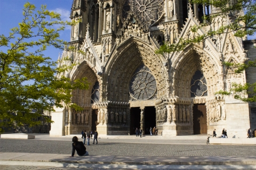
[{"label": "blue sky at upper left around the tree top", "polygon": [[[35,4],[37,8],[42,4],[47,5],[48,10],[60,13],[62,20],[65,21],[69,20],[73,0],[0,0],[0,35],[9,36],[10,29],[18,27],[18,23],[23,19],[22,8],[26,2]],[[65,31],[61,31],[60,39],[70,41],[70,27],[66,27]],[[62,50],[50,47],[47,48],[44,55],[57,61],[59,53],[61,55]]]}]

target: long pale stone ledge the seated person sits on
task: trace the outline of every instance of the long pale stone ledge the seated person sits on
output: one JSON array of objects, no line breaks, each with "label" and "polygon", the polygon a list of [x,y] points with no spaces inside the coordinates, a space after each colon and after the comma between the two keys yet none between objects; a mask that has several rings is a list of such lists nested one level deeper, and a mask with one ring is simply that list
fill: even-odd
[{"label": "long pale stone ledge the seated person sits on", "polygon": [[125,165],[256,165],[256,157],[139,157],[139,156],[77,156],[66,154],[28,154],[5,152],[0,160]]}]

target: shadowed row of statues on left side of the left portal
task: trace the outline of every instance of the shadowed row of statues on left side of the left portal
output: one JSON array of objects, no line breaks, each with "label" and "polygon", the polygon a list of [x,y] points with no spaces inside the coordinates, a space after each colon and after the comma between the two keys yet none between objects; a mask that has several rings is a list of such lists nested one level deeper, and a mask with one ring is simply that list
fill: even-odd
[{"label": "shadowed row of statues on left side of the left portal", "polygon": [[90,110],[73,111],[72,124],[74,125],[86,125],[89,124]]}]

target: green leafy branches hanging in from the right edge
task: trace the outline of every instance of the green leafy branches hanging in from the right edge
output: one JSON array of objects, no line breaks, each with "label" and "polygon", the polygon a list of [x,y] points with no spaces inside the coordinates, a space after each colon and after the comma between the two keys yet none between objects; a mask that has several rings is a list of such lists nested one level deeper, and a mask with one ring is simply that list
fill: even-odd
[{"label": "green leafy branches hanging in from the right edge", "polygon": [[[214,6],[219,12],[203,16],[203,23],[199,26],[194,25],[191,32],[197,32],[198,29],[206,27],[208,23],[212,22],[215,18],[222,17],[229,20],[228,24],[222,25],[218,30],[209,30],[204,35],[188,39],[178,39],[174,44],[163,44],[158,50],[157,54],[179,52],[189,45],[200,43],[207,38],[221,35],[227,32],[234,32],[236,37],[244,38],[247,35],[254,35],[256,32],[256,1],[255,0],[191,0],[191,4],[203,4],[204,6]],[[238,14],[238,12],[245,11]],[[249,67],[256,67],[256,60],[246,63],[228,63],[223,62],[226,67],[232,67],[236,73],[241,73]],[[233,83],[229,92],[217,91],[215,94],[221,95],[234,95],[235,99],[242,101],[256,101],[256,83],[246,83],[244,85]]]}]

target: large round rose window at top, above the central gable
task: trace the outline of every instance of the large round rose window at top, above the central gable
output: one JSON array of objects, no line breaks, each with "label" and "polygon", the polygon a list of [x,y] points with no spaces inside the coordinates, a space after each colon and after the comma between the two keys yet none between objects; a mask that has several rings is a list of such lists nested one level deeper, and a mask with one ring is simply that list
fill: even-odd
[{"label": "large round rose window at top, above the central gable", "polygon": [[164,13],[163,0],[127,0],[123,7],[123,18],[134,10],[148,25],[155,23]]}]

